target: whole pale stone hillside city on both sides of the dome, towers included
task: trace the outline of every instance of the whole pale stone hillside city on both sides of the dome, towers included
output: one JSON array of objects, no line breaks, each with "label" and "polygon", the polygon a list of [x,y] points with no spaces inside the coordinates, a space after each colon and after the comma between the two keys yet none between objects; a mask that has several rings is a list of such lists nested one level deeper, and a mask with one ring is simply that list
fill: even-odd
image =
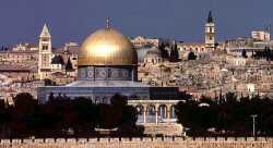
[{"label": "whole pale stone hillside city on both sides of the dome, towers included", "polygon": [[[183,42],[138,36],[131,42],[138,51],[138,81],[153,86],[179,87],[195,98],[217,97],[228,91],[238,96],[273,96],[272,61],[257,58],[265,48],[273,49],[266,30],[253,30],[250,37],[216,39],[212,12],[204,25],[203,42]],[[165,42],[166,51],[161,49]],[[167,44],[166,44],[167,42]],[[171,45],[178,48],[179,61],[170,62]],[[19,44],[0,50],[0,98],[12,102],[22,91],[36,97],[36,88],[62,86],[78,79],[76,42],[52,47],[45,25],[35,44]],[[189,59],[195,55],[195,60]]]}]

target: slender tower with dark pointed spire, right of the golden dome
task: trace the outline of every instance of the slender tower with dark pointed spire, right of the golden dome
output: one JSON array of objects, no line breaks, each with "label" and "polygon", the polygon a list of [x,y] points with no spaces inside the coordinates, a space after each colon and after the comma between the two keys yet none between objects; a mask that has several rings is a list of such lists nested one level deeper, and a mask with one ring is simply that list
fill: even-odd
[{"label": "slender tower with dark pointed spire, right of the golden dome", "polygon": [[205,23],[205,49],[213,51],[215,49],[215,24],[212,16],[212,11],[210,11],[206,23]]}]

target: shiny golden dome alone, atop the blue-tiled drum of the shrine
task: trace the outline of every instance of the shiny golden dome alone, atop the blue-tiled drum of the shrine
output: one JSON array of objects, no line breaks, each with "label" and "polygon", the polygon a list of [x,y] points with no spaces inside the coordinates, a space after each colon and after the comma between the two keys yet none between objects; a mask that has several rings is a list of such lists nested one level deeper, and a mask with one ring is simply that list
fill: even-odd
[{"label": "shiny golden dome alone, atop the blue-tiled drum of the shrine", "polygon": [[78,60],[78,65],[134,65],[138,54],[126,36],[107,27],[84,40]]}]

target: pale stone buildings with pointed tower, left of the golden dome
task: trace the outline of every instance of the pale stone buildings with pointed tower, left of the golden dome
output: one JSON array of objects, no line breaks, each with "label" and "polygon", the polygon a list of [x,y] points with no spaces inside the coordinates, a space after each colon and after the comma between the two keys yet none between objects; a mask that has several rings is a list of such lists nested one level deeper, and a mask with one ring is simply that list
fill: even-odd
[{"label": "pale stone buildings with pointed tower, left of the golden dome", "polygon": [[37,87],[64,85],[75,79],[78,49],[75,42],[52,48],[47,25],[37,44],[19,44],[0,51],[0,98],[12,103],[19,92],[37,96]]}]

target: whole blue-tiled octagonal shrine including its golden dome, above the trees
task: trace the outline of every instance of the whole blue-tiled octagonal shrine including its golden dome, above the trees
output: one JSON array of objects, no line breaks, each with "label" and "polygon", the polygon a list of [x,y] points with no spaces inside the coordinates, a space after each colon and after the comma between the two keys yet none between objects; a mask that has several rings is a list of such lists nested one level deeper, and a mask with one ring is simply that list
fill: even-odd
[{"label": "whole blue-tiled octagonal shrine including its golden dome, above the trees", "polygon": [[91,34],[78,55],[78,81],[66,86],[39,87],[39,103],[50,94],[71,99],[85,97],[93,102],[109,102],[115,94],[129,99],[176,99],[177,87],[154,87],[138,82],[138,54],[131,41],[107,25]]}]

